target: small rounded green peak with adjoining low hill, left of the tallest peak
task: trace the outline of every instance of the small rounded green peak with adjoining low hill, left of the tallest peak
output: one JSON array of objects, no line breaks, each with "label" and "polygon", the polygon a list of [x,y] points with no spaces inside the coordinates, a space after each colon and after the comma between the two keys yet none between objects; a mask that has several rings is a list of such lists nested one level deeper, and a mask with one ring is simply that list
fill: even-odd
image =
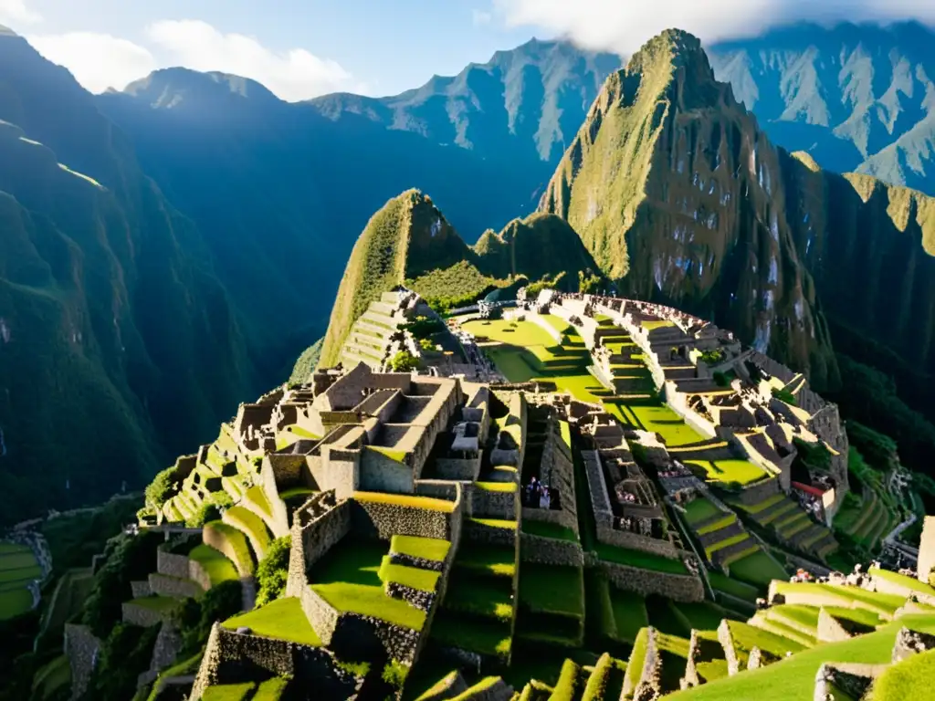
[{"label": "small rounded green peak with adjoining low hill, left of the tallest peak", "polygon": [[581,239],[558,217],[534,214],[514,220],[499,234],[485,232],[470,247],[428,195],[407,191],[381,207],[357,238],[331,310],[320,363],[338,363],[353,323],[396,285],[405,284],[429,301],[443,294],[469,303],[520,278],[563,275],[565,284],[577,289],[579,274],[596,269]]}]

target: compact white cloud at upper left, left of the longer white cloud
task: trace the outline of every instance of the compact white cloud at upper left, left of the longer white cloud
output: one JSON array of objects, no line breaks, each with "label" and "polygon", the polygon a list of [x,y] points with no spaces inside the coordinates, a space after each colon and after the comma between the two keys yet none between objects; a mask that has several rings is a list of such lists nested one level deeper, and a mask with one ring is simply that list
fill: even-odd
[{"label": "compact white cloud at upper left, left of the longer white cloud", "polygon": [[156,68],[149,50],[132,41],[94,32],[26,36],[54,64],[64,65],[92,93],[122,90]]}]

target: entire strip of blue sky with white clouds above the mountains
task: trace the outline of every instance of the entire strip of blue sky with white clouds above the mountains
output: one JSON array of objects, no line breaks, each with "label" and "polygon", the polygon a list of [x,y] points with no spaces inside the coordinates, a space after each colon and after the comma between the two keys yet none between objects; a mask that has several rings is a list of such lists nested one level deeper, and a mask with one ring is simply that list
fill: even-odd
[{"label": "entire strip of blue sky with white clouds above the mountains", "polygon": [[916,19],[932,0],[0,0],[0,23],[100,92],[184,65],[283,99],[371,95],[453,75],[532,36],[626,55],[677,26],[702,40],[795,20]]}]

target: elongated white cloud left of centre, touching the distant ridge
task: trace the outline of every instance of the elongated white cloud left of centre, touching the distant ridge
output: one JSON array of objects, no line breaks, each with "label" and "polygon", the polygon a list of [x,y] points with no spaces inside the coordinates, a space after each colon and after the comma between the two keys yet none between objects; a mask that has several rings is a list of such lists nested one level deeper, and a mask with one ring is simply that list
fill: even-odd
[{"label": "elongated white cloud left of centre, touching the distant ridge", "polygon": [[269,50],[252,36],[222,34],[205,21],[157,21],[147,28],[147,36],[169,64],[251,78],[283,100],[365,87],[355,85],[335,61],[305,49]]}]

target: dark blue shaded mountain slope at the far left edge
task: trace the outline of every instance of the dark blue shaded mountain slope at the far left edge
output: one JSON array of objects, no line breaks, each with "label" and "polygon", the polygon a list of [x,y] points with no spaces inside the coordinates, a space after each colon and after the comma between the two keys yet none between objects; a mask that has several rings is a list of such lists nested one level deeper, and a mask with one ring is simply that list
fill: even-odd
[{"label": "dark blue shaded mountain slope at the far left edge", "polygon": [[194,224],[65,69],[0,32],[0,512],[138,487],[257,386]]}]

